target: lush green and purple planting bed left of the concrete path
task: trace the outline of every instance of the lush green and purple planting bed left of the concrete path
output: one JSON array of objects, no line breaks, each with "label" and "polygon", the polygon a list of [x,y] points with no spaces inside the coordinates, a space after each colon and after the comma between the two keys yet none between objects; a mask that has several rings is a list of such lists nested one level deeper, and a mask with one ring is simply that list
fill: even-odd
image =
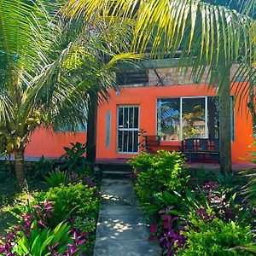
[{"label": "lush green and purple planting bed left of the concrete path", "polygon": [[[98,188],[86,172],[85,177],[75,174],[65,186],[19,197],[11,211],[18,224],[0,238],[1,255],[93,254]],[[55,177],[48,182],[55,183]]]}]

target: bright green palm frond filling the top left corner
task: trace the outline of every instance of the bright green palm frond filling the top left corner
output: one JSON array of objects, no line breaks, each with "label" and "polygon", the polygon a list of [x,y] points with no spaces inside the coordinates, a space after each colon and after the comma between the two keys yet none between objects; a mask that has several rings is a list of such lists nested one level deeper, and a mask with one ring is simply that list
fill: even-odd
[{"label": "bright green palm frond filling the top left corner", "polygon": [[44,9],[35,3],[0,1],[0,50],[5,53],[8,70],[18,66],[34,72],[40,58],[38,49],[47,45],[42,44],[49,22],[46,17]]}]

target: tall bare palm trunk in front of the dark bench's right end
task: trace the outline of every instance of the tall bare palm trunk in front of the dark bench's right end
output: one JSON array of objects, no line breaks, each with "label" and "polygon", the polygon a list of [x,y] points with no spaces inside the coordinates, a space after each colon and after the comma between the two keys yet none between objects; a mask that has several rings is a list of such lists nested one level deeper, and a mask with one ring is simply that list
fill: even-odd
[{"label": "tall bare palm trunk in front of the dark bench's right end", "polygon": [[[229,73],[229,72],[228,72]],[[232,173],[230,76],[222,80],[219,92],[219,164],[224,175]]]}]

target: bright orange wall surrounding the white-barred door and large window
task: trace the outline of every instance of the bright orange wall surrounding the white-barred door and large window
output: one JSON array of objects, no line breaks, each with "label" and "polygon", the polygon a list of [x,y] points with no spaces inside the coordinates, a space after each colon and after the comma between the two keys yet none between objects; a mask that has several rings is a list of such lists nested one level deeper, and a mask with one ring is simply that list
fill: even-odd
[{"label": "bright orange wall surrounding the white-barred door and large window", "polygon": [[[236,84],[238,86],[238,84]],[[235,92],[234,86],[232,93]],[[212,96],[215,90],[208,90],[207,86],[201,85],[177,85],[177,86],[154,86],[154,87],[127,87],[121,88],[119,96],[111,93],[112,100],[103,106],[98,114],[101,120],[101,128],[98,128],[97,157],[99,158],[129,158],[132,154],[117,153],[117,109],[119,105],[138,105],[140,107],[140,129],[147,131],[148,135],[156,134],[156,102],[160,97],[180,97],[180,96]],[[245,104],[245,102],[242,102]],[[232,162],[242,162],[241,158],[246,158],[252,150],[248,145],[253,143],[251,117],[246,113],[247,109],[238,111],[238,102],[235,108],[235,142],[232,142]],[[106,143],[106,113],[111,112],[111,145],[105,147]],[[103,123],[102,123],[103,121]],[[161,142],[160,148],[178,149],[178,142]]]}]

